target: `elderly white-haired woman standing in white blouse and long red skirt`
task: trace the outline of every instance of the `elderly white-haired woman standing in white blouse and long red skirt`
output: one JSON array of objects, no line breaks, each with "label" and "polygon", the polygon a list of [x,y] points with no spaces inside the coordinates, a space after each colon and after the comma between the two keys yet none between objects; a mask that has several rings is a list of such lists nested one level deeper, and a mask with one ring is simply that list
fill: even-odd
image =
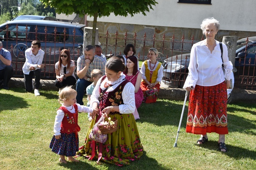
[{"label": "elderly white-haired woman standing in white blouse and long red skirt", "polygon": [[198,145],[208,141],[207,133],[218,133],[219,150],[226,152],[227,87],[230,87],[233,65],[228,60],[225,44],[222,44],[222,62],[220,43],[214,39],[219,27],[219,21],[213,17],[203,20],[201,29],[206,40],[192,46],[189,73],[183,88],[190,91],[186,132],[201,135]]}]

